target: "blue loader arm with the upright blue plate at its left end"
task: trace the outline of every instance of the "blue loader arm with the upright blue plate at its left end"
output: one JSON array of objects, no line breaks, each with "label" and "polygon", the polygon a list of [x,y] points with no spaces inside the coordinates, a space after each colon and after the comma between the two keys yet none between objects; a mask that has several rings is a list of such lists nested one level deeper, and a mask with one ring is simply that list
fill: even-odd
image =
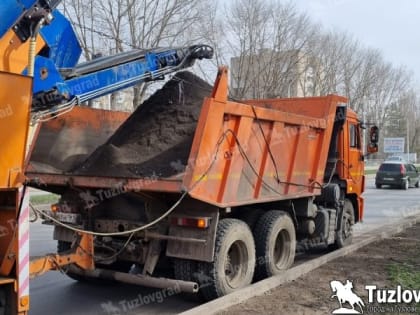
[{"label": "blue loader arm with the upright blue plate at its left end", "polygon": [[32,111],[80,104],[136,84],[158,80],[212,58],[207,45],[134,49],[78,64],[81,48],[69,21],[57,10],[41,30],[46,49],[35,58]]}]

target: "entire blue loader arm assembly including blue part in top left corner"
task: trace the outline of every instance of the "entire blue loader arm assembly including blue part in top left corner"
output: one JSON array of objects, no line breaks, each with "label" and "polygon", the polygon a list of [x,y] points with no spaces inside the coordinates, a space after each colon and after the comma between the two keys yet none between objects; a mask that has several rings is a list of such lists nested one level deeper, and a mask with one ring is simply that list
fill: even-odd
[{"label": "entire blue loader arm assembly including blue part in top left corner", "polygon": [[[82,49],[69,20],[56,10],[61,0],[1,0],[0,38],[12,29],[22,42],[39,36],[44,47],[34,57],[32,112],[41,115],[161,79],[212,58],[207,45],[135,49],[79,63]],[[26,68],[23,74],[28,74]]]}]

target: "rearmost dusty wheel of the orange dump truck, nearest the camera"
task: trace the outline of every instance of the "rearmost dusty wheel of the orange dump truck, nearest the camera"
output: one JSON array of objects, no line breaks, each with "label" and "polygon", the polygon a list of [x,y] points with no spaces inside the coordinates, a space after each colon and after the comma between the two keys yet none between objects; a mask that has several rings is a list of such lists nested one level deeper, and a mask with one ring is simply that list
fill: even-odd
[{"label": "rearmost dusty wheel of the orange dump truck, nearest the camera", "polygon": [[255,269],[252,232],[238,219],[219,221],[213,262],[199,263],[200,291],[212,300],[251,284]]}]

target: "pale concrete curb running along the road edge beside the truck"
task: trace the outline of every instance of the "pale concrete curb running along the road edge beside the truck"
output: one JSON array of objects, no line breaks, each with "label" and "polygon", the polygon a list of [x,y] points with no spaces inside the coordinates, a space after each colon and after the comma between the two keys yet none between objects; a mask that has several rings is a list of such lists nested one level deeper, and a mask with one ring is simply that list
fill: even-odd
[{"label": "pale concrete curb running along the road edge beside the truck", "polygon": [[419,214],[404,218],[402,220],[397,221],[396,223],[385,225],[371,232],[364,233],[354,238],[353,244],[351,244],[350,246],[312,259],[310,261],[304,262],[296,267],[287,270],[281,275],[262,280],[239,291],[233,292],[229,295],[223,296],[216,300],[192,308],[188,311],[182,312],[180,313],[180,315],[216,314],[225,310],[228,307],[244,302],[252,297],[263,295],[267,291],[270,291],[283,283],[295,280],[300,276],[324,265],[325,263],[331,260],[350,254],[374,241],[398,234],[418,222],[420,222]]}]

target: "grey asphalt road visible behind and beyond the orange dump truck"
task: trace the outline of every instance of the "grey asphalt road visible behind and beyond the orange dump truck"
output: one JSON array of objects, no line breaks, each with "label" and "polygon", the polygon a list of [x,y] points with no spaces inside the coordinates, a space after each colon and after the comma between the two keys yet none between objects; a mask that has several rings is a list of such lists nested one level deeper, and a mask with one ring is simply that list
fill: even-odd
[{"label": "grey asphalt road visible behind and beyond the orange dump truck", "polygon": [[[365,192],[365,220],[356,225],[356,234],[371,231],[404,216],[420,212],[420,189],[375,189],[368,180]],[[31,256],[55,252],[52,228],[31,225]],[[31,281],[30,315],[45,314],[176,314],[196,305],[183,296],[143,287],[113,284],[93,285],[71,280],[59,272],[49,272]],[[164,296],[166,295],[166,297]]]}]

